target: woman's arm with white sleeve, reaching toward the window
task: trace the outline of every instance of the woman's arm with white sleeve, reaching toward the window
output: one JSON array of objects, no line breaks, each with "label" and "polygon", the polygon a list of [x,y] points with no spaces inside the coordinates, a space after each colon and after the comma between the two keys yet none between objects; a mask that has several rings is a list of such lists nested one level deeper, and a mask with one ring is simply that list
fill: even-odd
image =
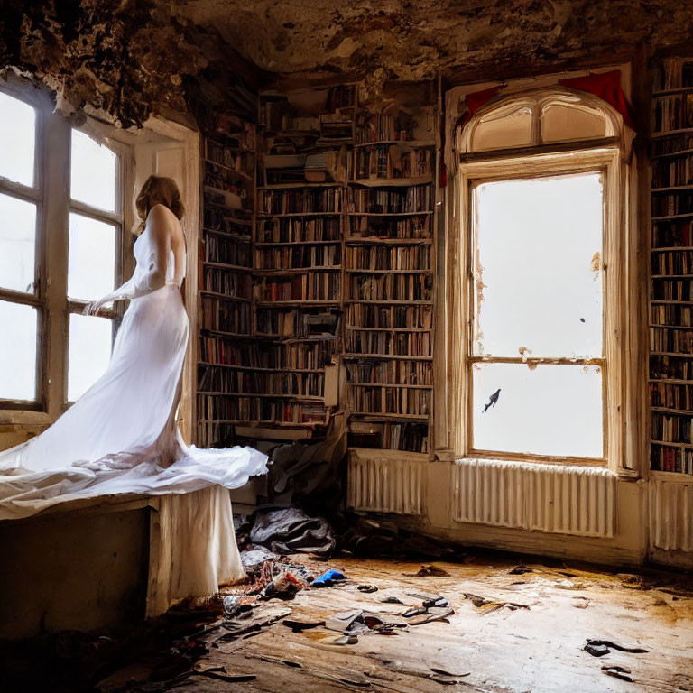
[{"label": "woman's arm with white sleeve, reaching toward the window", "polygon": [[131,277],[115,291],[111,291],[99,300],[88,303],[83,311],[85,315],[96,314],[106,303],[113,300],[138,299],[164,286],[171,251],[171,224],[167,215],[168,210],[163,205],[154,205],[149,213],[147,224],[150,236],[152,236],[153,248],[142,276],[137,281]]}]

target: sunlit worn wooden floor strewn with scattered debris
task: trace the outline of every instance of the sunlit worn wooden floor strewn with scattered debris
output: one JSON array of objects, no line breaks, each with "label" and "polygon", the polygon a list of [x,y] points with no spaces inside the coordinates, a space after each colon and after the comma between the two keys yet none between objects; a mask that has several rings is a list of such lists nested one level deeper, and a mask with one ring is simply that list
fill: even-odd
[{"label": "sunlit worn wooden floor strewn with scattered debris", "polygon": [[[326,620],[354,608],[402,614],[407,606],[383,604],[383,599],[397,596],[406,605],[418,605],[420,599],[406,594],[418,590],[448,598],[455,611],[449,623],[411,626],[393,635],[368,634],[356,644],[339,645],[333,644],[338,633],[324,627],[294,633],[280,620],[245,639],[217,640],[197,663],[200,673],[175,689],[693,691],[693,593],[685,580],[682,585],[680,579],[675,584],[662,576],[606,575],[536,563],[525,564],[531,572],[513,575],[513,563],[503,558],[434,565],[449,576],[412,575],[418,563],[338,559],[329,567],[342,569],[351,578],[348,585],[310,589],[293,601],[273,601],[262,608],[291,609],[291,619],[304,621]],[[378,591],[359,592],[356,586],[364,583]],[[491,603],[477,606],[475,596]],[[647,652],[612,649],[597,658],[583,650],[588,640]],[[221,667],[222,674],[254,674],[256,679],[229,683],[212,678],[213,670]],[[633,681],[613,678],[603,667],[621,667]],[[438,681],[431,679],[437,671],[451,676],[439,673]]]}]

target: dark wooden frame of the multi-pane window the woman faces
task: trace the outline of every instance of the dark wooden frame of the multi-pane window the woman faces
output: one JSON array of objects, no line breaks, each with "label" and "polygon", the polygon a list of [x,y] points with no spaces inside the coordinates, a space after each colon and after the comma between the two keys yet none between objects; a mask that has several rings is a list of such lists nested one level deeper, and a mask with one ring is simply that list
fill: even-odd
[{"label": "dark wooden frame of the multi-pane window the woman faces", "polygon": [[[36,114],[34,187],[0,178],[0,194],[25,199],[36,205],[35,291],[23,293],[0,287],[0,300],[32,305],[38,312],[36,341],[35,400],[0,399],[0,426],[47,425],[69,408],[68,359],[69,316],[83,310],[85,301],[70,300],[67,292],[69,213],[115,225],[115,286],[122,282],[132,247],[125,234],[127,208],[125,190],[132,182],[131,147],[100,134],[106,127],[93,118],[80,126],[55,111],[47,89],[36,88],[14,74],[7,76],[0,91],[29,104]],[[115,213],[93,208],[70,197],[70,151],[73,127],[104,143],[118,155]],[[113,335],[123,314],[123,306],[103,310],[113,319]]]}]

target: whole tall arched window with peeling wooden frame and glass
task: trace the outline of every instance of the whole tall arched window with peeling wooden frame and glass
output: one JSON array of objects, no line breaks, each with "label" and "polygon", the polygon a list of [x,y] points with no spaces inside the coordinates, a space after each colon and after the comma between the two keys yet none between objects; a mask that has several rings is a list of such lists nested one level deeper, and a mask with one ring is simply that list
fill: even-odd
[{"label": "whole tall arched window with peeling wooden frame and glass", "polygon": [[537,89],[496,97],[457,142],[449,448],[624,466],[621,116],[590,95]]}]

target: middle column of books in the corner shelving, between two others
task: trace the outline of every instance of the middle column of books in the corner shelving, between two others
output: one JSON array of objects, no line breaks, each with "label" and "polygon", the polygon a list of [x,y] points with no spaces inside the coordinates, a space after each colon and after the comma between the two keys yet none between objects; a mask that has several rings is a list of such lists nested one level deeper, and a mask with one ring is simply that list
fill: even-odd
[{"label": "middle column of books in the corner shelving, between two others", "polygon": [[254,334],[282,368],[251,392],[270,426],[321,429],[337,406],[347,145],[356,88],[264,94],[254,236]]}]

